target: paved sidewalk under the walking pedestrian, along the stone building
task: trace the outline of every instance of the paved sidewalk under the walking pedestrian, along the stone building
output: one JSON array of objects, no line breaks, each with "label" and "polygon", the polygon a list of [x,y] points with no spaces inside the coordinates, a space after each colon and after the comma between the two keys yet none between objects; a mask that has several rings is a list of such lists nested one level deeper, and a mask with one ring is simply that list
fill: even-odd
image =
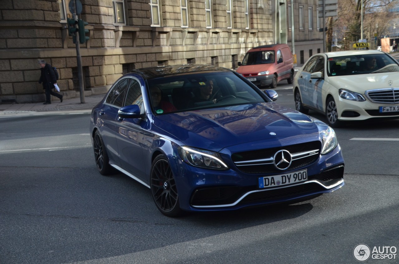
[{"label": "paved sidewalk under the walking pedestrian, along the stone building", "polygon": [[0,104],[0,115],[2,114],[19,114],[34,112],[50,112],[61,110],[85,110],[89,111],[104,98],[105,94],[85,96],[85,103],[80,102],[80,97],[64,99],[60,102],[55,99],[51,104],[43,104],[43,102],[27,103],[27,104]]}]

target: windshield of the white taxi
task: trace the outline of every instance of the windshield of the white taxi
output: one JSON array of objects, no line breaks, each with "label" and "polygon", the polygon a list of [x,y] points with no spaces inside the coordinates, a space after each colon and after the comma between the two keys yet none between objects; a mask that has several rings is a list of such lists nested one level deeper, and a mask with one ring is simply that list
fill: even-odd
[{"label": "windshield of the white taxi", "polygon": [[328,59],[328,76],[399,71],[399,64],[386,54],[349,55]]}]

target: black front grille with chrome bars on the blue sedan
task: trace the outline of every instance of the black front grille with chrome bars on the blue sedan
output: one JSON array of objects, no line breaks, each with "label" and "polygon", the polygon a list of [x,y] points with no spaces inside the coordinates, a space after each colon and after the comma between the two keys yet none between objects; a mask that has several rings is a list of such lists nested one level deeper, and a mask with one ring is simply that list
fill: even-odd
[{"label": "black front grille with chrome bars on the blue sedan", "polygon": [[280,173],[273,163],[273,157],[279,150],[288,150],[293,156],[288,170],[294,170],[315,162],[320,154],[320,141],[306,142],[278,148],[268,148],[246,152],[237,152],[231,155],[231,159],[243,173],[266,174]]}]

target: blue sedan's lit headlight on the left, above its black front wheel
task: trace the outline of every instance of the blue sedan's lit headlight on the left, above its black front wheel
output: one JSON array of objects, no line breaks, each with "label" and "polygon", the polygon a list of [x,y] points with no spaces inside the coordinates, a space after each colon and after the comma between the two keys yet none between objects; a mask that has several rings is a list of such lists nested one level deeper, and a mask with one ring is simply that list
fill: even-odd
[{"label": "blue sedan's lit headlight on the left, above its black front wheel", "polygon": [[194,167],[201,167],[206,169],[229,169],[220,157],[219,153],[201,150],[198,148],[179,147],[180,158],[184,162]]}]

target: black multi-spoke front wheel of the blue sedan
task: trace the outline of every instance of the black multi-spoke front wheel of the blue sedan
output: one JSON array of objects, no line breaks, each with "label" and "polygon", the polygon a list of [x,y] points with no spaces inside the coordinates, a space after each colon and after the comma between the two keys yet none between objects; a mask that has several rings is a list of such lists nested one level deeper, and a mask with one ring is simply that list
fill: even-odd
[{"label": "black multi-spoke front wheel of the blue sedan", "polygon": [[182,215],[176,182],[169,162],[163,154],[156,156],[151,165],[151,192],[161,213],[168,217]]}]

